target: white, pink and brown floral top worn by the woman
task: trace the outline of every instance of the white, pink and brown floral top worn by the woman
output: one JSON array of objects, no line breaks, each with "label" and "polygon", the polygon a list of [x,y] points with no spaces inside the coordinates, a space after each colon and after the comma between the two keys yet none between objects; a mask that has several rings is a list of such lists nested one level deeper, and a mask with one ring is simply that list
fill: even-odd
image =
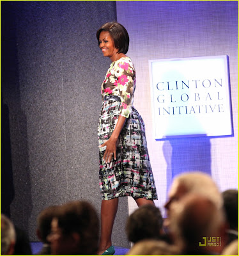
[{"label": "white, pink and brown floral top worn by the woman", "polygon": [[136,76],[132,60],[129,57],[120,58],[111,63],[106,73],[101,87],[102,97],[104,99],[106,95],[119,96],[122,103],[119,115],[128,118],[132,112],[135,84]]}]

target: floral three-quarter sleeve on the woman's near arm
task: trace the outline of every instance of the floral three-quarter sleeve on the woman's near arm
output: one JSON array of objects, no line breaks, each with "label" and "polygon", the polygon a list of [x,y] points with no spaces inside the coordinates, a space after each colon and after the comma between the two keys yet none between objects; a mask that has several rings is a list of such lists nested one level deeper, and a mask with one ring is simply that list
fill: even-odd
[{"label": "floral three-quarter sleeve on the woman's near arm", "polygon": [[[115,84],[118,87],[122,108],[119,113],[128,118],[132,112],[134,100],[135,69],[131,61],[120,60],[114,67]],[[116,84],[117,83],[117,84]]]}]

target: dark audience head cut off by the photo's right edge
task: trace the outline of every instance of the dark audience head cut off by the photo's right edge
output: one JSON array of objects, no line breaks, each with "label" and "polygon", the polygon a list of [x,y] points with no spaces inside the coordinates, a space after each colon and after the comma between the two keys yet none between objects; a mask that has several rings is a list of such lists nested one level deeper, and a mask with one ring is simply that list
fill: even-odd
[{"label": "dark audience head cut off by the photo's right edge", "polygon": [[238,231],[238,190],[228,189],[222,192],[222,198],[229,228]]}]

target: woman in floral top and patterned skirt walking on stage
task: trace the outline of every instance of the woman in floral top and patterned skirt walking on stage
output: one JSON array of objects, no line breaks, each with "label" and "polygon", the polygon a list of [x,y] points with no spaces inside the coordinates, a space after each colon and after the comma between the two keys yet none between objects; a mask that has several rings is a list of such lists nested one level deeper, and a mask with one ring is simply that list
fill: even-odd
[{"label": "woman in floral top and patterned skirt walking on stage", "polygon": [[100,148],[101,237],[98,254],[113,255],[112,227],[119,196],[132,196],[137,205],[157,199],[146,144],[144,122],[132,106],[135,69],[125,54],[127,30],[118,22],[104,24],[96,33],[98,45],[112,61],[102,83],[102,111],[98,124]]}]

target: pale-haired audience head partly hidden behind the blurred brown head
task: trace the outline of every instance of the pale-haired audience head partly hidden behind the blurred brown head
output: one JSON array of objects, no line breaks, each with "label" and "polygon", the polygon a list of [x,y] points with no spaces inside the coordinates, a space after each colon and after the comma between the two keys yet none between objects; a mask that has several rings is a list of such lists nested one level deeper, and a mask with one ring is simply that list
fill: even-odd
[{"label": "pale-haired audience head partly hidden behind the blurred brown head", "polygon": [[183,173],[173,180],[173,184],[169,190],[168,200],[164,205],[168,217],[165,221],[166,226],[170,222],[171,205],[189,193],[203,195],[212,200],[218,209],[222,207],[222,195],[210,175],[203,172]]}]

